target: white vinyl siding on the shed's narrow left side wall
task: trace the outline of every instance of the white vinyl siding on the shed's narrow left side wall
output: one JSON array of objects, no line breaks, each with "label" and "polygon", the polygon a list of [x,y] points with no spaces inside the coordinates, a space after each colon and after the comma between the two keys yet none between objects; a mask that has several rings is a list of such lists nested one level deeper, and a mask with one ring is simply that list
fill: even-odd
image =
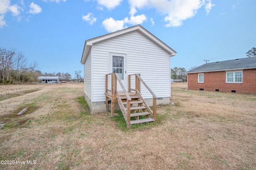
[{"label": "white vinyl siding on the shed's narrow left side wall", "polygon": [[92,66],[91,66],[91,53],[89,54],[85,64],[84,64],[84,93],[88,96],[88,98],[92,99]]}]

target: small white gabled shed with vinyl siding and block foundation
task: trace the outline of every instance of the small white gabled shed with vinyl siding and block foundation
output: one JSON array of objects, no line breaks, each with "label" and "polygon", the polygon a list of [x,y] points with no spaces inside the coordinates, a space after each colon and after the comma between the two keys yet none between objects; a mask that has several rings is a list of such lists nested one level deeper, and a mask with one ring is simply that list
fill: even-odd
[{"label": "small white gabled shed with vinyl siding and block foundation", "polygon": [[[135,90],[137,93],[135,79],[139,74],[144,80],[138,80],[139,86],[144,82],[157,96],[157,104],[168,104],[171,90],[170,57],[175,55],[173,49],[141,25],[86,40],[81,64],[84,64],[84,96],[91,111],[106,111],[108,103],[118,102],[107,95],[112,93],[112,96],[117,96],[113,90],[123,92],[123,89],[127,89],[127,92]],[[116,74],[106,75],[112,72]],[[123,88],[115,75],[120,78]],[[132,75],[130,79],[129,75]],[[146,86],[142,84],[139,90],[148,105],[152,106],[152,94]],[[111,106],[113,112],[114,104]],[[115,108],[120,109],[118,105]]]}]

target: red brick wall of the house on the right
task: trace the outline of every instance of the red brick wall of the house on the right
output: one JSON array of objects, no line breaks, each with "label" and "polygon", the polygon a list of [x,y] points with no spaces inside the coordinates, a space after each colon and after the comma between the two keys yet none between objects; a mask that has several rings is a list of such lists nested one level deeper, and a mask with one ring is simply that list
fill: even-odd
[{"label": "red brick wall of the house on the right", "polygon": [[236,93],[256,94],[256,69],[243,70],[242,83],[226,83],[226,72],[205,72],[204,83],[198,83],[198,73],[188,74],[188,89],[219,92],[231,92],[236,90]]}]

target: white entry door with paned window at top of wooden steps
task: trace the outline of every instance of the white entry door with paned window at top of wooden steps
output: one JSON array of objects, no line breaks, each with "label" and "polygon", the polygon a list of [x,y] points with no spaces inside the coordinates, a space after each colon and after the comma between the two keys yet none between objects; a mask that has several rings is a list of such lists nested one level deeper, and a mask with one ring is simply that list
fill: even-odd
[{"label": "white entry door with paned window at top of wooden steps", "polygon": [[[110,53],[110,71],[117,73],[122,84],[126,88],[126,55]],[[127,90],[127,89],[126,89]],[[117,82],[117,91],[123,91],[119,82]]]}]

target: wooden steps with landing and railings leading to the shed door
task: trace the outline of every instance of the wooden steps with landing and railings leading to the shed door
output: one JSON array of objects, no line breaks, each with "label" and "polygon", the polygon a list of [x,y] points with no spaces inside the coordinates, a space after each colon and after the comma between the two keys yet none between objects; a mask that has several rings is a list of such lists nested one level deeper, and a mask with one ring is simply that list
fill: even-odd
[{"label": "wooden steps with landing and railings leading to the shed door", "polygon": [[[131,78],[132,79],[134,78],[134,79],[131,80]],[[133,85],[131,85],[131,81],[134,83]],[[153,109],[148,106],[148,104],[142,97],[142,94],[140,94],[141,84],[143,84],[144,87],[148,90],[148,92],[152,94]],[[119,86],[119,90],[121,90],[120,92],[118,92],[118,86]],[[110,99],[111,100],[111,116],[114,116],[114,108],[115,108],[114,104],[118,103],[122,111],[122,114],[124,115],[126,126],[128,128],[131,127],[131,125],[136,123],[146,123],[146,122],[151,122],[156,120],[157,96],[149,88],[146,82],[142,80],[142,78],[140,77],[140,74],[128,75],[128,90],[126,90],[124,84],[120,80],[117,73],[106,74],[105,95],[106,95],[106,102],[105,102],[106,111],[108,111],[108,104]],[[135,117],[136,120],[131,120],[131,117]]]}]

